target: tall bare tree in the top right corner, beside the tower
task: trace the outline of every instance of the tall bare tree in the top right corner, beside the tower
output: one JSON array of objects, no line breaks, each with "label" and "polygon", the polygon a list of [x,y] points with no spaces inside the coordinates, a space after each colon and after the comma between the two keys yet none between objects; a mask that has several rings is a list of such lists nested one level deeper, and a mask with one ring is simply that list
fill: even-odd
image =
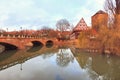
[{"label": "tall bare tree in the top right corner, beside the tower", "polygon": [[113,28],[118,28],[120,15],[120,0],[106,0],[104,6],[106,12],[109,15],[109,26]]}]

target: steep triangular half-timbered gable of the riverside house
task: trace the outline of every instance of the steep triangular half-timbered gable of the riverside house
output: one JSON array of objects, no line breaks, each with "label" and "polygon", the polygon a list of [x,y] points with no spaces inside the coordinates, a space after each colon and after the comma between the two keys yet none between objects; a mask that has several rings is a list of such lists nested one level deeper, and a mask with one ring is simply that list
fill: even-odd
[{"label": "steep triangular half-timbered gable of the riverside house", "polygon": [[85,22],[85,20],[82,18],[78,24],[75,26],[75,28],[73,29],[73,31],[83,31],[83,30],[88,30],[88,26]]}]

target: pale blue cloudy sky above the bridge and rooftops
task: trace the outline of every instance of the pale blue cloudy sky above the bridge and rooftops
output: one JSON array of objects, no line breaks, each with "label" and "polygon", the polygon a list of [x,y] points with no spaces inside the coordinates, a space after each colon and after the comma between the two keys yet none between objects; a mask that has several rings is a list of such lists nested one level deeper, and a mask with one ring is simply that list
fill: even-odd
[{"label": "pale blue cloudy sky above the bridge and rooftops", "polygon": [[82,17],[90,26],[91,16],[103,6],[104,0],[0,0],[0,29],[55,28],[62,18],[76,25]]}]

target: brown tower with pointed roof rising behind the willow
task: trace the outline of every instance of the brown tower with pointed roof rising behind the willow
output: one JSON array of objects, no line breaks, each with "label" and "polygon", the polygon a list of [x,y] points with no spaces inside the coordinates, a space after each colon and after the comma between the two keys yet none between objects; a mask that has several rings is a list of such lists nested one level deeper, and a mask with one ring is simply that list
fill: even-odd
[{"label": "brown tower with pointed roof rising behind the willow", "polygon": [[92,28],[97,32],[101,26],[108,26],[108,14],[102,10],[99,10],[96,14],[94,14],[91,18],[92,20]]}]

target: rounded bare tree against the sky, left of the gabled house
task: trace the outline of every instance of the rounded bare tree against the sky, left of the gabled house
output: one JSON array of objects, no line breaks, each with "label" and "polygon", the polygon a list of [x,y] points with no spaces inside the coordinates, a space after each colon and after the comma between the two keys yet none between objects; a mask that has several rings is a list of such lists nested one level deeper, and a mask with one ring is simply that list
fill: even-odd
[{"label": "rounded bare tree against the sky, left of the gabled house", "polygon": [[56,23],[57,30],[59,30],[61,32],[66,31],[67,29],[69,29],[69,26],[70,26],[70,24],[66,19],[60,19]]}]

